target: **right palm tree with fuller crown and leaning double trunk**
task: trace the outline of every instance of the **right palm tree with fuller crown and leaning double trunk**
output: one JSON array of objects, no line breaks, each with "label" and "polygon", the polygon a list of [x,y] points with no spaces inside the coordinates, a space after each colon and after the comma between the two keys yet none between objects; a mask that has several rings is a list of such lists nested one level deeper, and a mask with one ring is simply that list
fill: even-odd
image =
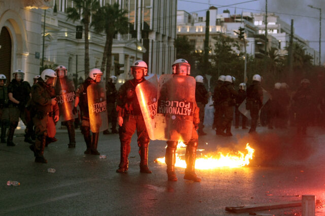
[{"label": "right palm tree with fuller crown and leaning double trunk", "polygon": [[125,16],[126,10],[120,9],[118,3],[113,5],[106,4],[101,7],[92,17],[91,25],[98,33],[105,32],[106,42],[102,59],[101,70],[104,71],[106,64],[106,80],[110,77],[110,71],[112,66],[112,45],[113,39],[117,32],[127,33],[128,20]]}]

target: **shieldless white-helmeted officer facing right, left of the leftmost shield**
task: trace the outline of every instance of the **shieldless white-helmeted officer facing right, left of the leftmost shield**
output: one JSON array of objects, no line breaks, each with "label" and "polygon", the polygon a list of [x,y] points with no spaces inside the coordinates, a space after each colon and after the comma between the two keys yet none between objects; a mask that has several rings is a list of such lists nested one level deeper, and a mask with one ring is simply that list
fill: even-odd
[{"label": "shieldless white-helmeted officer facing right, left of the leftmost shield", "polygon": [[[56,97],[53,87],[56,83],[56,73],[52,69],[45,69],[42,71],[38,82],[31,88],[32,98],[32,121],[35,125],[36,139],[35,144],[29,146],[30,150],[34,152],[35,162],[47,163],[44,158],[44,149],[46,145],[46,137],[48,135],[47,123],[48,113],[51,111],[51,106],[56,104]],[[54,121],[58,121],[56,116]]]}]

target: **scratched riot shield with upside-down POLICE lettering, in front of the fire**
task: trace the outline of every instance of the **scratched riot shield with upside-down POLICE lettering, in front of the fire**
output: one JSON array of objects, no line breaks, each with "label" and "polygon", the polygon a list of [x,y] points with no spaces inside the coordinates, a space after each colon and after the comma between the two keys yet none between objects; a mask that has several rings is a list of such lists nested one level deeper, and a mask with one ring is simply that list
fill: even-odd
[{"label": "scratched riot shield with upside-down POLICE lettering, in front of the fire", "polygon": [[155,137],[160,140],[189,141],[195,102],[193,77],[161,75],[158,83]]}]

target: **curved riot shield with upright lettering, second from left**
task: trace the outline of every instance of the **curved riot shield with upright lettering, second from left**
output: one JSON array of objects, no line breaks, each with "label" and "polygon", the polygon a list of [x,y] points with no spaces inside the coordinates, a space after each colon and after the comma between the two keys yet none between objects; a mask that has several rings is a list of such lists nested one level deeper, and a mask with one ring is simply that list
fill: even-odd
[{"label": "curved riot shield with upright lettering, second from left", "polygon": [[106,91],[104,83],[87,87],[90,130],[98,133],[108,129]]}]

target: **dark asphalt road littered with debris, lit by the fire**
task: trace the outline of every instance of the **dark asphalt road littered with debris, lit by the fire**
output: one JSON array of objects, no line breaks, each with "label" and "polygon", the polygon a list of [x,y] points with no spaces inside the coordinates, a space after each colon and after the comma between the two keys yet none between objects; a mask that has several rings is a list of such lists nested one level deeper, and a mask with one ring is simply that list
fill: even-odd
[{"label": "dark asphalt road littered with debris, lit by the fire", "polygon": [[[165,141],[151,141],[151,174],[139,172],[136,137],[131,144],[129,170],[116,173],[120,148],[117,134],[100,135],[99,156],[84,155],[80,130],[77,146],[68,149],[68,134],[58,130],[58,141],[46,148],[47,164],[34,162],[29,144],[17,135],[16,147],[0,145],[1,215],[248,215],[229,213],[226,206],[301,200],[304,194],[325,200],[323,157],[325,135],[310,128],[306,137],[294,129],[257,128],[257,135],[233,129],[234,136],[220,137],[212,129],[199,138],[198,156],[218,151],[243,150],[246,142],[255,149],[250,165],[241,168],[196,170],[201,183],[183,180],[184,169],[176,168],[177,182],[168,182],[166,164],[154,160],[165,155]],[[47,172],[56,169],[55,173]],[[20,186],[7,186],[18,181]],[[317,210],[317,215],[323,215]],[[275,215],[301,215],[301,207],[255,211]]]}]

